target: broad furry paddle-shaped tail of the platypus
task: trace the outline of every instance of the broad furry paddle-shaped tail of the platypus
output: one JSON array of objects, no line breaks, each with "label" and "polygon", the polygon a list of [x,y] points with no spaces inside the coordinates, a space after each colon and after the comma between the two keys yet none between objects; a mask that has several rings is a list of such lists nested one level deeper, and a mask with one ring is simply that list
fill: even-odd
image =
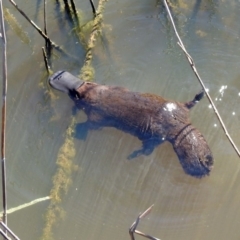
[{"label": "broad furry paddle-shaped tail of the platypus", "polygon": [[213,167],[211,150],[202,134],[191,124],[171,141],[184,171],[194,177],[208,175]]}]

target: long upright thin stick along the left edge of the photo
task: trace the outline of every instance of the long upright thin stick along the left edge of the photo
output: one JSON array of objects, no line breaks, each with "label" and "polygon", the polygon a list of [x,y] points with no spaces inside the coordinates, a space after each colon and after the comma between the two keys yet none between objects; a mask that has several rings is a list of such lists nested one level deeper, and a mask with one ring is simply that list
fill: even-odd
[{"label": "long upright thin stick along the left edge of the photo", "polygon": [[7,224],[7,191],[6,191],[6,157],[5,157],[5,141],[6,141],[6,100],[7,100],[7,39],[5,25],[3,19],[2,0],[0,0],[0,21],[3,43],[3,91],[2,91],[2,134],[1,134],[1,159],[2,159],[2,193],[3,193],[3,222]]}]

